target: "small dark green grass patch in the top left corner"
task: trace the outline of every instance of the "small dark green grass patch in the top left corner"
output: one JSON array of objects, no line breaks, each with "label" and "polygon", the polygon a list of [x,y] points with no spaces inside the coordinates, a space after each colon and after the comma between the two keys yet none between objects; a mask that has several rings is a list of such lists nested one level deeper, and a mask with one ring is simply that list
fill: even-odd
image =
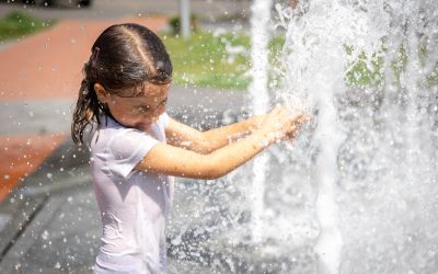
[{"label": "small dark green grass patch in the top left corner", "polygon": [[49,27],[54,23],[53,20],[39,20],[14,11],[0,19],[0,41],[22,37]]}]

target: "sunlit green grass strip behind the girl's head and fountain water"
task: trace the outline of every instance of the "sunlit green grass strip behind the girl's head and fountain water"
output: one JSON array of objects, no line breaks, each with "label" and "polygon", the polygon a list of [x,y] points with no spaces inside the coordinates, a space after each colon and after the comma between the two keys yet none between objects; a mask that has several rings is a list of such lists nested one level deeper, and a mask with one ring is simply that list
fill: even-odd
[{"label": "sunlit green grass strip behind the girl's head and fountain water", "polygon": [[[220,89],[243,90],[251,82],[247,71],[251,66],[250,37],[239,34],[221,34],[215,36],[208,32],[196,32],[188,41],[161,34],[174,66],[173,81],[176,84],[191,87],[211,87]],[[230,54],[226,46],[241,46],[245,49],[243,54]],[[281,68],[281,49],[285,44],[284,37],[275,37],[269,42],[269,61],[273,67]],[[347,54],[353,53],[353,47],[346,46]],[[384,49],[382,49],[384,55]],[[420,59],[426,61],[426,53],[419,50]],[[345,82],[349,87],[379,87],[383,84],[383,59],[382,55],[374,54],[367,57],[359,55],[358,59],[346,68]],[[406,68],[407,57],[400,49],[397,58],[392,61],[395,77]],[[269,75],[269,85],[276,87],[279,76]],[[433,73],[426,76],[428,85],[438,84],[438,62]]]}]

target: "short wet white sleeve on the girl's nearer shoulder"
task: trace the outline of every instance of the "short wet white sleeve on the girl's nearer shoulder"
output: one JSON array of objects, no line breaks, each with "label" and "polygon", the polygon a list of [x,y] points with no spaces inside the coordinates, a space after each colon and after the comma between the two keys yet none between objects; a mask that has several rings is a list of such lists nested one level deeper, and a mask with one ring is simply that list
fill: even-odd
[{"label": "short wet white sleeve on the girl's nearer shoulder", "polygon": [[108,142],[106,169],[113,175],[128,179],[134,168],[159,141],[137,129],[126,129]]}]

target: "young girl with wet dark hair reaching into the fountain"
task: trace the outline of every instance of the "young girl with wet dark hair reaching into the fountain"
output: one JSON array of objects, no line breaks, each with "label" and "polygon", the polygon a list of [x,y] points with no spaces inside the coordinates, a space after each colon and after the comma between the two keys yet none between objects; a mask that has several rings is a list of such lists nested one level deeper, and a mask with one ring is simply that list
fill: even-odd
[{"label": "young girl with wet dark hair reaching into the fountain", "polygon": [[119,24],[96,39],[71,126],[76,144],[88,125],[93,186],[103,224],[94,273],[165,273],[165,217],[173,178],[217,179],[307,119],[277,106],[266,115],[208,132],[171,118],[172,62],[145,26]]}]

